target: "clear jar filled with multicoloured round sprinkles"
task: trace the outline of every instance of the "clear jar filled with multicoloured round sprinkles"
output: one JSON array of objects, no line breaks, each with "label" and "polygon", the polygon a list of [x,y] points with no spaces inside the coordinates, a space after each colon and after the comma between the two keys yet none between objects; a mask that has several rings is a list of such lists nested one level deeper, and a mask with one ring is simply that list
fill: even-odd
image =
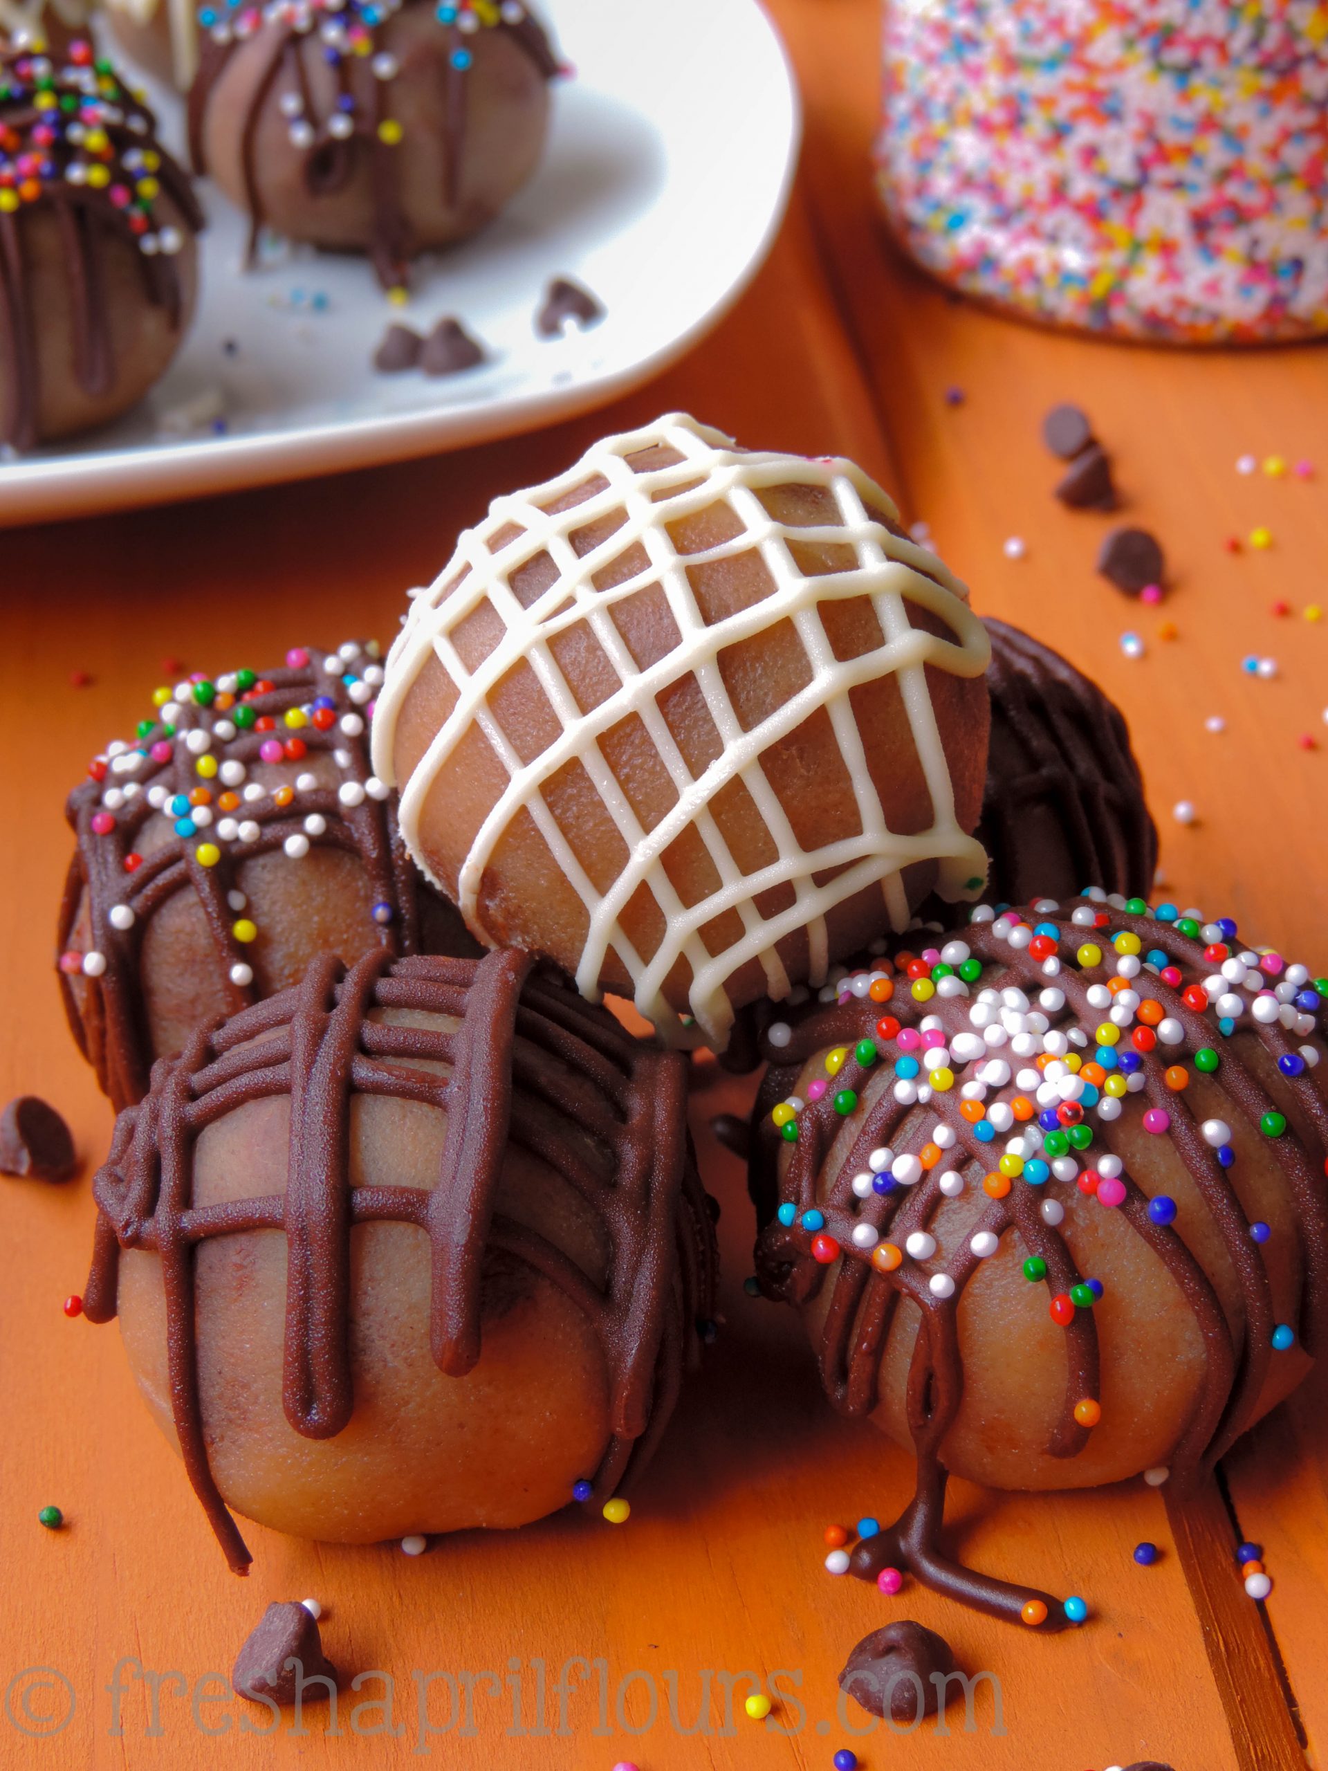
[{"label": "clear jar filled with multicoloured round sprinkles", "polygon": [[1328,331],[1328,12],[896,0],[878,186],[923,266],[1031,319]]}]

